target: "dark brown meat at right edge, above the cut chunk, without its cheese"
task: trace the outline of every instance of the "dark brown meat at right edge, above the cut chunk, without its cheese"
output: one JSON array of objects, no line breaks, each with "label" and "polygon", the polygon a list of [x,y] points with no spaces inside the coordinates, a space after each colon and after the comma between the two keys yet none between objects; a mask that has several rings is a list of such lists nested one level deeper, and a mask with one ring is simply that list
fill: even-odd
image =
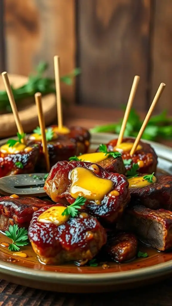
[{"label": "dark brown meat at right edge, above the cut chunk, without its cheese", "polygon": [[172,211],[172,176],[157,176],[157,181],[142,188],[129,189],[131,205],[136,203],[151,209],[164,208]]}]

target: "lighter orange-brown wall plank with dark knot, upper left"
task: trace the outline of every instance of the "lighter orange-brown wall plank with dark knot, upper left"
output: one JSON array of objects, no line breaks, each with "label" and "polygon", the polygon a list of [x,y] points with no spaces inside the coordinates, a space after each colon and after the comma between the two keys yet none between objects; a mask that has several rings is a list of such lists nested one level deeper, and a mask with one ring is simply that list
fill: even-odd
[{"label": "lighter orange-brown wall plank with dark knot, upper left", "polygon": [[[5,29],[7,69],[9,73],[28,76],[40,60],[50,64],[61,57],[61,75],[75,67],[74,0],[6,0]],[[62,94],[74,99],[74,86],[62,84]]]}]

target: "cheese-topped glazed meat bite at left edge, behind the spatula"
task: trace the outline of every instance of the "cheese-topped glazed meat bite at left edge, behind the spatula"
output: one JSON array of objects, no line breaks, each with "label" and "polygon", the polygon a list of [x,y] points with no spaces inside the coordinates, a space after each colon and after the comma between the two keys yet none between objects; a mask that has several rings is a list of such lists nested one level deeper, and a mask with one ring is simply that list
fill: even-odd
[{"label": "cheese-topped glazed meat bite at left edge, behind the spatula", "polygon": [[0,147],[0,177],[32,173],[38,159],[39,148],[34,144],[15,144],[9,147],[8,144]]}]

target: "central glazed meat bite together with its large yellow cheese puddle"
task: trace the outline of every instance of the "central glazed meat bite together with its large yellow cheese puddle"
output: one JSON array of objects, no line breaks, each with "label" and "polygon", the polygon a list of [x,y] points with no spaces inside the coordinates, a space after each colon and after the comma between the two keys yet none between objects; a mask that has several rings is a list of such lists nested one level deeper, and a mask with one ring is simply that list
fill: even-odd
[{"label": "central glazed meat bite together with its large yellow cheese puddle", "polygon": [[54,202],[65,197],[72,204],[84,196],[94,216],[114,223],[130,200],[128,185],[125,176],[109,173],[97,164],[62,161],[52,167],[44,189]]}]

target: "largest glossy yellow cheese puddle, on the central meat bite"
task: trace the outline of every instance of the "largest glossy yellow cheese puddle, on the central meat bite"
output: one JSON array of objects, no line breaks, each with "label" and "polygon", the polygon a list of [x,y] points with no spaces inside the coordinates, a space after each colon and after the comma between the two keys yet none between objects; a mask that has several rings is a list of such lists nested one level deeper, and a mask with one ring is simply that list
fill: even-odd
[{"label": "largest glossy yellow cheese puddle, on the central meat bite", "polygon": [[97,204],[100,204],[104,196],[113,188],[112,181],[98,177],[91,170],[81,167],[74,168],[69,172],[69,180],[72,182],[70,195],[74,199],[78,196],[84,196]]}]

